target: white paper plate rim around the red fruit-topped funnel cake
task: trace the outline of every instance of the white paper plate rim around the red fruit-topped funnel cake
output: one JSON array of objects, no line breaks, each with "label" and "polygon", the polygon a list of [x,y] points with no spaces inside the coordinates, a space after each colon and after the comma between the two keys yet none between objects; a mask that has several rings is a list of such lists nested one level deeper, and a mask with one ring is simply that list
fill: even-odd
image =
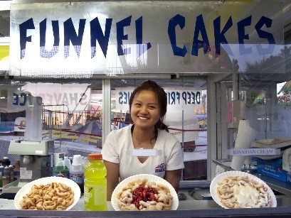
[{"label": "white paper plate rim around the red fruit-topped funnel cake", "polygon": [[178,195],[176,193],[176,190],[174,189],[173,186],[171,186],[171,184],[169,182],[167,182],[166,180],[164,180],[163,178],[160,178],[157,175],[150,175],[150,174],[139,174],[139,175],[132,175],[129,178],[126,178],[125,180],[122,180],[117,187],[115,187],[115,190],[113,190],[112,195],[111,195],[111,204],[112,207],[117,210],[120,211],[120,207],[117,204],[117,193],[122,190],[122,187],[125,187],[129,182],[132,182],[134,180],[138,180],[138,179],[147,179],[149,180],[149,182],[156,182],[157,184],[162,184],[165,185],[166,187],[169,188],[171,196],[173,197],[173,202],[171,205],[171,210],[176,210],[179,206],[179,199],[178,199]]}]

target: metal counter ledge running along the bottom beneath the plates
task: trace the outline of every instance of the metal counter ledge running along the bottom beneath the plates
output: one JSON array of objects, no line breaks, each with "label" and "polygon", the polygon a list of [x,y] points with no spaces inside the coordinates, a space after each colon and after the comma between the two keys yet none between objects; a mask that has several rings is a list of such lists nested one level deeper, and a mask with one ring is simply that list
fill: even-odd
[{"label": "metal counter ledge running along the bottom beneath the plates", "polygon": [[107,202],[107,212],[86,212],[84,209],[84,199],[69,211],[33,211],[16,210],[14,200],[0,199],[0,217],[1,216],[37,216],[37,217],[263,217],[275,215],[290,216],[291,198],[277,198],[277,207],[273,208],[255,208],[255,209],[223,209],[213,200],[184,200],[179,202],[176,211],[159,212],[115,212],[110,202]]}]

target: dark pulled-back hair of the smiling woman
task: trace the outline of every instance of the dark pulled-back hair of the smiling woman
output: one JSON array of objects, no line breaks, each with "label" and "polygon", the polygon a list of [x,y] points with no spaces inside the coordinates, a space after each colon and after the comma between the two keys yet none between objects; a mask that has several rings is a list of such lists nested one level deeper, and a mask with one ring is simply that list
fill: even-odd
[{"label": "dark pulled-back hair of the smiling woman", "polygon": [[166,102],[166,92],[164,92],[164,89],[162,87],[160,87],[159,85],[157,85],[157,83],[152,81],[152,80],[147,80],[146,82],[142,82],[142,84],[139,85],[139,87],[136,87],[134,89],[134,91],[132,92],[132,94],[129,98],[129,113],[132,109],[132,102],[133,102],[134,97],[137,94],[139,94],[139,92],[141,92],[143,90],[151,90],[157,96],[159,108],[161,111],[161,114],[160,114],[161,118],[159,119],[159,121],[157,121],[157,124],[154,125],[154,131],[156,133],[156,138],[157,138],[158,129],[164,129],[164,130],[169,132],[168,126],[166,126],[163,123],[164,116],[166,114],[166,103],[167,103]]}]

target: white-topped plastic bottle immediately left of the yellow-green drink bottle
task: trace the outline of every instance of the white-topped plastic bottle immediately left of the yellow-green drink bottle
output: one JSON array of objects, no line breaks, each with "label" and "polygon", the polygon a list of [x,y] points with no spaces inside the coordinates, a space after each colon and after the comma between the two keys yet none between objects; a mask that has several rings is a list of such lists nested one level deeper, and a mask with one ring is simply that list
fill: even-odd
[{"label": "white-topped plastic bottle immediately left of the yellow-green drink bottle", "polygon": [[82,156],[73,156],[73,163],[69,169],[69,178],[76,182],[80,187],[81,193],[84,193],[84,167]]}]

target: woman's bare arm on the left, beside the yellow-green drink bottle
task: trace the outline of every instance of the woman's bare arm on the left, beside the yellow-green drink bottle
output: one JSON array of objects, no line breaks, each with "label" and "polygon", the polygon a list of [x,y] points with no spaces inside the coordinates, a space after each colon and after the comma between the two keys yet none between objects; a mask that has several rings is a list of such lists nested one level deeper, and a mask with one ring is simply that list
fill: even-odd
[{"label": "woman's bare arm on the left, beside the yellow-green drink bottle", "polygon": [[111,195],[115,187],[120,182],[120,165],[103,160],[107,169],[107,200],[111,200]]}]

